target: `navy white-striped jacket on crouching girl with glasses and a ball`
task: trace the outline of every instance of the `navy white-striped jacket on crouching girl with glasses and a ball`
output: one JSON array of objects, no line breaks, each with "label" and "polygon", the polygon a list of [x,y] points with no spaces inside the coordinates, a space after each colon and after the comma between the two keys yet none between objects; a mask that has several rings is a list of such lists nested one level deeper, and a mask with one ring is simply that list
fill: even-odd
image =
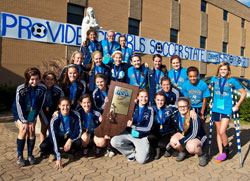
[{"label": "navy white-striped jacket on crouching girl with glasses and a ball", "polygon": [[[175,125],[176,131],[179,133],[182,133],[182,131],[179,129],[179,116],[178,111],[173,112],[171,117],[171,122],[173,125]],[[184,133],[184,138],[180,139],[180,144],[186,144],[189,140],[198,138],[202,142],[204,142],[207,139],[205,130],[201,124],[200,116],[197,116],[197,120],[192,120],[190,118],[190,126],[188,130]]]}]

